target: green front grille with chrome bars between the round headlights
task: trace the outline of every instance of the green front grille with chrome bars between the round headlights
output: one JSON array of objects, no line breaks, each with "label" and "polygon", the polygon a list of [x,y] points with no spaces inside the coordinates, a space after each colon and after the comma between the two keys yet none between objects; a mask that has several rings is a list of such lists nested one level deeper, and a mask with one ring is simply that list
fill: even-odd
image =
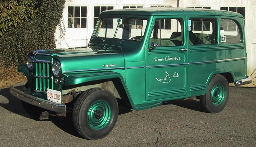
[{"label": "green front grille with chrome bars between the round headlights", "polygon": [[52,61],[36,60],[34,68],[35,91],[46,92],[53,89],[53,78],[51,72]]}]

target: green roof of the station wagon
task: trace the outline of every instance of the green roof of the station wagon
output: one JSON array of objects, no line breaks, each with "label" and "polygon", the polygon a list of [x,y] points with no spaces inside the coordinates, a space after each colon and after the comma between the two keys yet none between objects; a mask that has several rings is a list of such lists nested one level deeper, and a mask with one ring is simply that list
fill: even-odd
[{"label": "green roof of the station wagon", "polygon": [[174,8],[174,7],[151,7],[151,8],[126,8],[103,11],[100,15],[218,15],[243,17],[241,14],[224,10],[212,10],[201,8]]}]

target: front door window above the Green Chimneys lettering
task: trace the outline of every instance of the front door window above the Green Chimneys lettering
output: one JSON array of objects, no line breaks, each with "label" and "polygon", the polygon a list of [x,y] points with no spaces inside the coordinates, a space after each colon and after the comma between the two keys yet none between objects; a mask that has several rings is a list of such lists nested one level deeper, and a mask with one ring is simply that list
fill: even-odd
[{"label": "front door window above the Green Chimneys lettering", "polygon": [[182,19],[157,19],[149,43],[158,46],[182,46]]}]

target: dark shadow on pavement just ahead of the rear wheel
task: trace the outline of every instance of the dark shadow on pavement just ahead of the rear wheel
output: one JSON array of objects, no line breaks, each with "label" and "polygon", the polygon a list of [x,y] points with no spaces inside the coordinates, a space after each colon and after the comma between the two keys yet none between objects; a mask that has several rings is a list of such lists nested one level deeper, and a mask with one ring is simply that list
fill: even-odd
[{"label": "dark shadow on pavement just ahead of the rear wheel", "polygon": [[200,101],[196,100],[196,98],[165,101],[163,103],[163,105],[165,105],[165,104],[173,104],[173,105],[176,105],[176,106],[180,106],[180,107],[187,108],[187,109],[194,110],[194,111],[198,111],[198,112],[206,112],[204,107],[200,104]]}]

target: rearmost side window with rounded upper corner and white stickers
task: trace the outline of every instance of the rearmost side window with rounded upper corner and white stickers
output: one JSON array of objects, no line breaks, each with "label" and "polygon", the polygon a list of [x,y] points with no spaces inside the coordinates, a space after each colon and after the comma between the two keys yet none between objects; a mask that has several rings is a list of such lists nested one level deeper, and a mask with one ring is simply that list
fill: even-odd
[{"label": "rearmost side window with rounded upper corner and white stickers", "polygon": [[241,43],[242,36],[236,22],[230,19],[220,19],[221,43]]}]

